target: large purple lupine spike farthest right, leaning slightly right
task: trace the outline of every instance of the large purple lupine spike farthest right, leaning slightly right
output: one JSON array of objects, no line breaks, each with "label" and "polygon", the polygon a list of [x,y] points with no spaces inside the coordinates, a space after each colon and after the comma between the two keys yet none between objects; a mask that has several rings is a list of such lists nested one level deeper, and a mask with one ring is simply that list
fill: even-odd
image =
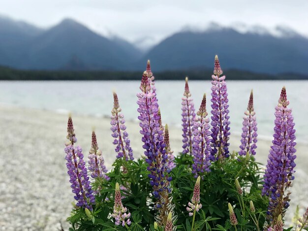
[{"label": "large purple lupine spike farthest right, leaning slightly right", "polygon": [[274,140],[268,157],[262,195],[269,197],[268,218],[277,220],[277,216],[284,215],[289,207],[289,194],[285,190],[294,179],[293,173],[296,166],[295,130],[292,109],[288,108],[285,87],[282,88],[278,105],[275,108]]}]

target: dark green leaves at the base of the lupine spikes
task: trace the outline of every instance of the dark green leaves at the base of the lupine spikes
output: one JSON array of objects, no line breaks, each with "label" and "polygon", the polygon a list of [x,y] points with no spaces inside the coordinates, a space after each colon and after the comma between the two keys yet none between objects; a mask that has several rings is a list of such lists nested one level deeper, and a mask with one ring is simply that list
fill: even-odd
[{"label": "dark green leaves at the base of the lupine spikes", "polygon": [[[175,159],[176,167],[171,171],[174,212],[178,215],[174,225],[178,231],[192,231],[192,217],[186,211],[196,179],[191,173],[192,157],[180,155]],[[71,231],[122,231],[127,227],[116,226],[111,217],[114,205],[116,182],[121,186],[122,202],[131,213],[129,230],[154,231],[154,198],[149,184],[147,163],[144,159],[125,162],[117,159],[114,169],[108,173],[110,180],[95,179],[94,190],[99,193],[95,197],[93,211],[75,207],[67,220],[72,225]],[[194,231],[234,230],[230,225],[228,202],[234,206],[239,230],[256,230],[256,224],[262,229],[268,198],[261,197],[261,176],[259,165],[253,157],[247,160],[237,154],[231,155],[225,162],[215,162],[211,172],[202,175],[200,198],[202,208],[196,214]],[[235,186],[238,179],[243,190],[240,195]],[[253,201],[255,213],[250,211],[249,201]],[[255,218],[255,219],[254,219]],[[158,227],[158,231],[164,230]],[[155,230],[156,231],[156,230]]]}]

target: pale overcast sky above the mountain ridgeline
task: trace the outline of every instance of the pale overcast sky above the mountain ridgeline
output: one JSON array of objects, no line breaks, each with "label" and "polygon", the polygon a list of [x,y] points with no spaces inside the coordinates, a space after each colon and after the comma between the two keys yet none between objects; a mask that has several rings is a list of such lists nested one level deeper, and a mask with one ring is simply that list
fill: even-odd
[{"label": "pale overcast sky above the mountain ridgeline", "polygon": [[64,18],[129,41],[160,40],[186,26],[284,25],[308,36],[308,0],[0,0],[0,14],[48,28]]}]

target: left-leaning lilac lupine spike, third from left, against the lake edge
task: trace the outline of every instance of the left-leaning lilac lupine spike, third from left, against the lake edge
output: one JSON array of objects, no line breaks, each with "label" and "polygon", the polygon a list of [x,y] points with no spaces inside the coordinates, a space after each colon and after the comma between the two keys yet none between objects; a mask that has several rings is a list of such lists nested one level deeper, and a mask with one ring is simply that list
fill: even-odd
[{"label": "left-leaning lilac lupine spike, third from left, against the lake edge", "polygon": [[124,160],[134,160],[133,150],[130,147],[130,140],[128,133],[126,132],[124,115],[121,113],[121,107],[119,105],[119,99],[117,94],[113,93],[114,107],[111,111],[111,131],[112,137],[114,137],[113,144],[116,145],[117,158],[123,158]]}]

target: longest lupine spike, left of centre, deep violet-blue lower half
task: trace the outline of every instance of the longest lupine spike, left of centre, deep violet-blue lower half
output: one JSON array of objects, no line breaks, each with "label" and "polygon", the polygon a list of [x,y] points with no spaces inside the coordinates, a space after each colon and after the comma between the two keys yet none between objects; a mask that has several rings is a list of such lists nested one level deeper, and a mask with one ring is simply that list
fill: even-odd
[{"label": "longest lupine spike, left of centre, deep violet-blue lower half", "polygon": [[[170,189],[171,176],[168,176],[167,162],[168,155],[166,155],[163,131],[159,127],[158,103],[156,94],[151,91],[147,72],[142,75],[141,93],[137,94],[137,104],[139,108],[137,111],[140,113],[138,119],[140,120],[140,133],[143,135],[142,142],[145,149],[146,162],[148,163],[148,171],[150,171],[149,178],[150,184],[153,187],[153,195],[157,199],[155,208],[164,209],[167,204]],[[165,211],[160,211],[164,217],[161,221],[157,221],[159,225],[164,220],[165,225],[166,214]]]}]

